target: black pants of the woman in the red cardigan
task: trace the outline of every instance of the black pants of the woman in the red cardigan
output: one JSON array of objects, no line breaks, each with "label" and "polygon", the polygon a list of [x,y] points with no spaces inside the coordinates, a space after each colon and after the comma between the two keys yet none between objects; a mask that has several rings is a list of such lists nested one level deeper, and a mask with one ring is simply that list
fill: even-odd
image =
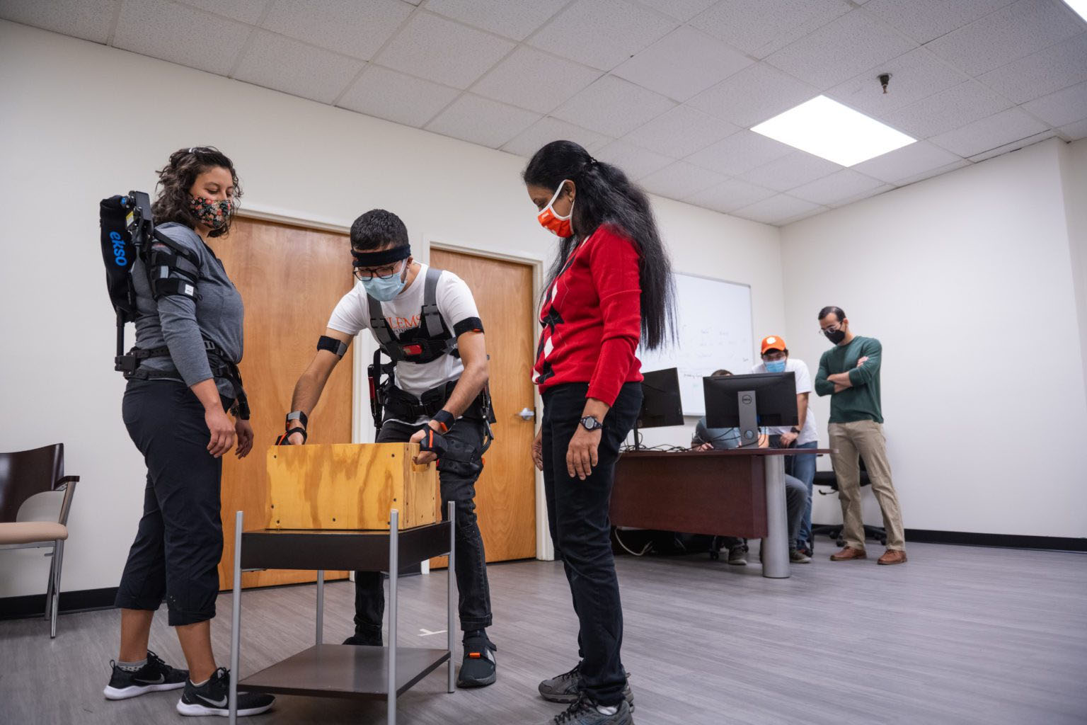
[{"label": "black pants of the woman in the red cardigan", "polygon": [[620,658],[623,607],[611,550],[608,509],[619,447],[641,408],[641,385],[627,383],[604,420],[599,461],[585,480],[566,473],[566,449],[577,430],[588,385],[571,383],[544,393],[544,488],[555,555],[562,560],[580,626],[582,687],[603,705],[623,699]]}]

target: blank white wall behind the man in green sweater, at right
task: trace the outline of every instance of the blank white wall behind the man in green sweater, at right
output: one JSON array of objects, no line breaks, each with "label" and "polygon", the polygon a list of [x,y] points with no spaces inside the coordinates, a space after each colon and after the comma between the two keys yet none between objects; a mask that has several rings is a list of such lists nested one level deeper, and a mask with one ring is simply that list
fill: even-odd
[{"label": "blank white wall behind the man in green sweater, at right", "polygon": [[[1065,213],[1077,208],[1082,252],[1085,151],[1047,141],[782,230],[792,354],[815,368],[827,304],[883,341],[907,528],[1087,535],[1083,320]],[[1072,176],[1078,187],[1065,189]],[[827,399],[813,409],[825,441]],[[840,521],[836,499],[816,507],[816,521]],[[877,524],[878,509],[866,520]]]}]

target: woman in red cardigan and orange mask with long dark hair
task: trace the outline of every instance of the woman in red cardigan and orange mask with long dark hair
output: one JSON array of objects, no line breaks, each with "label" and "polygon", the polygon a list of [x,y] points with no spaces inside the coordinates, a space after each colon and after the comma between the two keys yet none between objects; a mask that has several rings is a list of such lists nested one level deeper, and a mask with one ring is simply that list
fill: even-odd
[{"label": "woman in red cardigan and orange mask with long dark hair", "polygon": [[523,178],[540,224],[561,238],[540,310],[533,380],[544,421],[533,458],[544,472],[582,658],[539,690],[547,700],[571,703],[551,723],[630,725],[608,505],[620,445],[641,408],[635,351],[639,340],[659,347],[671,329],[671,265],[646,195],[577,143],[548,143]]}]

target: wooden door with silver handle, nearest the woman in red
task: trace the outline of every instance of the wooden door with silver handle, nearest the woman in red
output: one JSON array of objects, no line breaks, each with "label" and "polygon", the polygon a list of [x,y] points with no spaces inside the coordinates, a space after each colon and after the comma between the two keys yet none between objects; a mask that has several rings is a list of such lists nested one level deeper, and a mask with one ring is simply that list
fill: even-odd
[{"label": "wooden door with silver handle, nearest the woman in red", "polygon": [[[490,355],[490,392],[498,423],[495,442],[484,457],[475,499],[487,561],[534,558],[536,468],[532,443],[536,425],[535,420],[517,415],[535,405],[533,270],[527,264],[440,249],[430,250],[430,264],[467,283],[479,308]],[[435,560],[433,565],[445,566],[445,559]]]}]

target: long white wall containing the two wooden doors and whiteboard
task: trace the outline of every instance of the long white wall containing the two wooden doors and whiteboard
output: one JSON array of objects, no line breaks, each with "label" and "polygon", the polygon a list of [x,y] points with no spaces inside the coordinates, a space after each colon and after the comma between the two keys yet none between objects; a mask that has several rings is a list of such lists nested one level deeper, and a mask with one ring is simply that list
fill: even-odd
[{"label": "long white wall containing the two wooden doors and whiteboard", "polygon": [[[143,89],[157,99],[139,98]],[[143,488],[112,371],[101,198],[149,190],[170,152],[215,145],[241,174],[245,208],[349,225],[385,207],[413,243],[550,254],[520,183],[524,159],[7,22],[0,128],[0,450],[64,441],[68,473],[83,477],[66,590],[117,584]],[[751,285],[757,328],[784,325],[775,228],[669,200],[654,207],[678,271]],[[47,564],[0,555],[0,597],[45,591]]]}]

